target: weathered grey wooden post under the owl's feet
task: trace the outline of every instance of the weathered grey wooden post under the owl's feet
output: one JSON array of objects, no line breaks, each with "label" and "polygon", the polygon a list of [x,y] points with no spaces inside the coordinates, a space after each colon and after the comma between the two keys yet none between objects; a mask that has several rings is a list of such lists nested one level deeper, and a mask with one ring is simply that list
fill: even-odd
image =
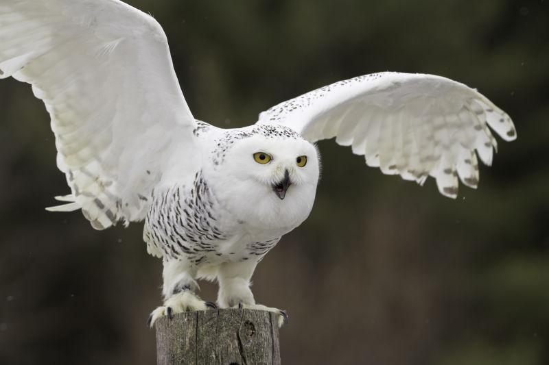
[{"label": "weathered grey wooden post under the owl's feet", "polygon": [[279,328],[271,312],[205,310],[156,320],[158,365],[280,365]]}]

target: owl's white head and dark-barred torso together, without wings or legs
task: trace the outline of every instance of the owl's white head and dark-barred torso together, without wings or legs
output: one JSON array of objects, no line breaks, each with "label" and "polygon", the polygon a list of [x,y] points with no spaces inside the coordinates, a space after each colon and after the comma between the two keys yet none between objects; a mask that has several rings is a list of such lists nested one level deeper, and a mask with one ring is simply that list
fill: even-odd
[{"label": "owl's white head and dark-barred torso together, without wings or legs", "polygon": [[[216,266],[259,262],[281,236],[305,221],[314,202],[318,158],[311,155],[306,178],[299,177],[303,171],[296,171],[296,158],[316,149],[281,125],[220,129],[197,121],[193,133],[198,142],[193,155],[200,168],[197,161],[172,158],[172,173],[146,198],[152,201],[143,239],[152,255],[185,260],[198,270],[198,277],[215,279]],[[256,149],[257,142],[261,147]],[[258,149],[272,160],[253,162]],[[252,161],[250,171],[238,168],[240,159]],[[264,184],[250,184],[250,172],[258,169],[255,179]],[[286,171],[295,182],[280,199],[273,185]]]}]

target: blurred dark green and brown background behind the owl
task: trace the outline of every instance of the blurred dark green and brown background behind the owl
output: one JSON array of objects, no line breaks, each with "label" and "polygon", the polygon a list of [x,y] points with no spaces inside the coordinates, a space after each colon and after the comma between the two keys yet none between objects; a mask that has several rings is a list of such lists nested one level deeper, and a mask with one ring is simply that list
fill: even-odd
[{"label": "blurred dark green and brown background behind the owl", "polygon": [[[377,71],[462,81],[515,121],[457,200],[319,143],[316,206],[254,277],[257,300],[290,313],[285,364],[549,364],[549,1],[128,3],[163,25],[214,125]],[[0,83],[0,123],[0,364],[154,364],[161,262],[142,225],[43,210],[68,189],[29,86]]]}]

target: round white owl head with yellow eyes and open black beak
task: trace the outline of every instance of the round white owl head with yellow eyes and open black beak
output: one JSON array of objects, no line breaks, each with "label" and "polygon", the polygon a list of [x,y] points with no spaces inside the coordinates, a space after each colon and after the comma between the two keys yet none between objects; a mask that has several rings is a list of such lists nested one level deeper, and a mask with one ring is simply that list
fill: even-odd
[{"label": "round white owl head with yellow eyes and open black beak", "polygon": [[309,215],[320,161],[314,144],[281,125],[253,125],[220,143],[216,179],[240,221],[290,231]]}]

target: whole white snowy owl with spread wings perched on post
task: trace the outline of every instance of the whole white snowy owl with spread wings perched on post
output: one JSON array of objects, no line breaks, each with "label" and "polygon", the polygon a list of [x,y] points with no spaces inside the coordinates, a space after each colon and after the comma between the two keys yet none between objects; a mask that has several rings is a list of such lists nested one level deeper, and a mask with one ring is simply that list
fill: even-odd
[{"label": "whole white snowy owl with spread wings perched on post", "polygon": [[[145,221],[163,260],[160,316],[216,306],[268,310],[250,279],[281,236],[311,212],[320,158],[336,137],[368,166],[455,198],[492,162],[491,129],[516,138],[511,118],[456,81],[375,73],[325,86],[221,129],[198,121],[180,89],[162,27],[118,0],[0,0],[0,77],[32,84],[51,116],[57,166],[71,194],[55,212],[82,210],[95,229]],[[218,281],[216,303],[197,279]]]}]

